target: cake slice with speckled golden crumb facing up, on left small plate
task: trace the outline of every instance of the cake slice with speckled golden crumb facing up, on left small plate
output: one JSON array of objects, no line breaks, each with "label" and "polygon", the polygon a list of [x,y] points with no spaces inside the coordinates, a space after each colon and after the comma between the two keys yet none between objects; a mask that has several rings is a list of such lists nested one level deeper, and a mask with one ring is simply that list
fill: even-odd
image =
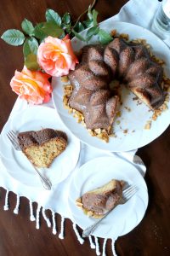
[{"label": "cake slice with speckled golden crumb facing up, on left small plate", "polygon": [[42,129],[25,131],[18,134],[20,148],[34,166],[48,168],[55,157],[61,154],[67,145],[67,136],[63,131]]}]

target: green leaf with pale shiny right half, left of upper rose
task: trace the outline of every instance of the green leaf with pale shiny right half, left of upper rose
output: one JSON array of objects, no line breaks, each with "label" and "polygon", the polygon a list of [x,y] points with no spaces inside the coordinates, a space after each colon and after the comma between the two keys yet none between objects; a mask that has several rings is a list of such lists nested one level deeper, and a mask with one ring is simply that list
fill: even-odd
[{"label": "green leaf with pale shiny right half, left of upper rose", "polygon": [[23,53],[26,58],[27,55],[33,54],[37,55],[38,43],[36,38],[26,39],[23,45]]}]

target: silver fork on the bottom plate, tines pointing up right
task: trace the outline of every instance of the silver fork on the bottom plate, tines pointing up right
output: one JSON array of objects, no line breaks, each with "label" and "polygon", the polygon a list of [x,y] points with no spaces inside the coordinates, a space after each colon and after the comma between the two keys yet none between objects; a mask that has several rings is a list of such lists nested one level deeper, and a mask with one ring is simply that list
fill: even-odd
[{"label": "silver fork on the bottom plate, tines pointing up right", "polygon": [[[122,191],[122,199],[116,204],[116,206],[118,205],[123,205],[125,204],[135,193],[137,192],[137,187],[136,186],[128,186],[127,189],[124,189]],[[115,207],[116,207],[115,206]],[[98,225],[100,224],[100,222],[106,218],[110,212],[112,212],[112,210],[115,208],[113,207],[111,209],[111,211],[107,212],[105,214],[105,216],[103,218],[99,218],[99,220],[97,222],[95,222],[94,224],[92,224],[91,226],[89,226],[86,230],[83,230],[82,232],[82,236],[83,237],[87,237],[87,236],[90,236],[94,230],[98,227]]]}]

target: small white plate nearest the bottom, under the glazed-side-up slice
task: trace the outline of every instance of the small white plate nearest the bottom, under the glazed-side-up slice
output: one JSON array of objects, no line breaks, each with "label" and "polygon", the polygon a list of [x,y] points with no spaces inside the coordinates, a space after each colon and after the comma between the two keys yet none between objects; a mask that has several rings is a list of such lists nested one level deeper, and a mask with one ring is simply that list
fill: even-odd
[{"label": "small white plate nearest the bottom, under the glazed-side-up slice", "polygon": [[138,188],[137,193],[126,204],[117,206],[94,230],[94,236],[116,240],[118,236],[127,234],[139,224],[148,206],[144,178],[134,166],[116,157],[100,157],[88,161],[72,177],[68,203],[73,220],[85,230],[94,224],[96,219],[85,215],[76,206],[75,201],[85,192],[108,183],[112,178],[123,180]]}]

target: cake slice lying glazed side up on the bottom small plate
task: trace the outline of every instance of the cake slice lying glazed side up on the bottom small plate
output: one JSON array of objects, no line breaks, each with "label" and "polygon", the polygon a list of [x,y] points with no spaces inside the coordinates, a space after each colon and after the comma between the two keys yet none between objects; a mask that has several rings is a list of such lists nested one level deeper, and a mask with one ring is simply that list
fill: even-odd
[{"label": "cake slice lying glazed side up on the bottom small plate", "polygon": [[88,191],[77,199],[77,207],[80,207],[85,214],[93,218],[102,218],[122,198],[124,182],[112,179],[104,186]]}]

